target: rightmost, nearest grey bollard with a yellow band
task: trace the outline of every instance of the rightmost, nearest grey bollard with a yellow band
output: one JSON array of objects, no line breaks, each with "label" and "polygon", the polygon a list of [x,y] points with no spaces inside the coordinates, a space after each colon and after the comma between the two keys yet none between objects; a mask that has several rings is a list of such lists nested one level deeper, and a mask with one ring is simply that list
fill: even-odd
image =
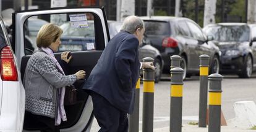
[{"label": "rightmost, nearest grey bollard with a yellow band", "polygon": [[221,131],[221,80],[220,74],[208,76],[209,83],[209,126],[208,132]]}]

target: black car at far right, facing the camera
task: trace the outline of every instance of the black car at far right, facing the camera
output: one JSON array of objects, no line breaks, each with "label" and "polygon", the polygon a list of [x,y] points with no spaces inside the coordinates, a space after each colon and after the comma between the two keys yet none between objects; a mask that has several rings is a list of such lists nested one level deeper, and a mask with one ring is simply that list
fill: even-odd
[{"label": "black car at far right, facing the camera", "polygon": [[221,50],[221,72],[249,78],[256,68],[256,25],[216,23],[203,31]]}]

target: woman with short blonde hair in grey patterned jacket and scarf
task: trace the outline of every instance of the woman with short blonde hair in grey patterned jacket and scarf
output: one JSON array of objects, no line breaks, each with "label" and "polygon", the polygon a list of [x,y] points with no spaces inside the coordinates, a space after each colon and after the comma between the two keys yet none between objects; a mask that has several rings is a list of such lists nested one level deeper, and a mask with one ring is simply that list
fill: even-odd
[{"label": "woman with short blonde hair in grey patterned jacket and scarf", "polygon": [[[82,70],[65,76],[54,57],[53,53],[61,45],[62,33],[62,29],[52,23],[43,25],[36,38],[38,50],[28,60],[25,70],[25,109],[47,126],[41,131],[59,131],[61,120],[67,120],[63,106],[65,86],[85,77],[85,71]],[[67,58],[67,55],[64,52],[61,58],[68,63],[72,57]]]}]

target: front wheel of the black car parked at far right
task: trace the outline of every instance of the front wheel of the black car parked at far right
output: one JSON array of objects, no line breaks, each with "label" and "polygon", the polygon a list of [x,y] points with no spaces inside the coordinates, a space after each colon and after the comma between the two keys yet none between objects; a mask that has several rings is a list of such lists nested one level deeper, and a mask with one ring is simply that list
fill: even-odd
[{"label": "front wheel of the black car parked at far right", "polygon": [[252,56],[247,55],[244,61],[244,68],[238,76],[241,78],[250,78],[252,76]]}]

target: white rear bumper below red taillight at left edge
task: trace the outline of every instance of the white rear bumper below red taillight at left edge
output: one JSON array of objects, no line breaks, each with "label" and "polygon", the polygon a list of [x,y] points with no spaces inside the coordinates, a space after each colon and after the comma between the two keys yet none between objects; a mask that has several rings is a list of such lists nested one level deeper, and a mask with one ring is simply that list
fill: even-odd
[{"label": "white rear bumper below red taillight at left edge", "polygon": [[22,82],[2,82],[0,131],[23,131],[25,90]]}]

